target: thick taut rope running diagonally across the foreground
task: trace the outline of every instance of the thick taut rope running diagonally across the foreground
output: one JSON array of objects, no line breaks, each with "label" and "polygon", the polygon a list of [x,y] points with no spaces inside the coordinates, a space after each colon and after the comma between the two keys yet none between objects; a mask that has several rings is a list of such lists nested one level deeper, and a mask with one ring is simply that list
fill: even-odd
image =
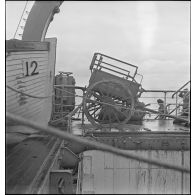
[{"label": "thick taut rope running diagonally across the foreground", "polygon": [[122,156],[122,157],[126,157],[126,158],[130,158],[133,160],[137,160],[137,161],[141,161],[141,162],[145,162],[145,163],[150,163],[152,165],[156,165],[156,166],[160,166],[160,167],[164,167],[166,169],[172,169],[175,171],[180,171],[180,172],[185,172],[185,173],[190,173],[190,169],[189,168],[184,168],[182,166],[178,166],[178,165],[172,165],[169,164],[167,162],[162,162],[162,161],[158,161],[158,160],[153,160],[153,159],[148,159],[142,156],[138,156],[138,155],[134,155],[134,154],[130,154],[129,151],[125,151],[125,150],[121,150],[103,143],[99,143],[97,141],[91,141],[88,140],[86,138],[82,138],[76,135],[72,135],[68,132],[64,132],[61,131],[57,128],[54,127],[48,127],[47,125],[42,125],[42,124],[37,124],[34,121],[25,119],[23,117],[20,116],[16,116],[14,114],[11,114],[9,112],[6,113],[6,117],[10,120],[13,120],[14,122],[17,122],[21,125],[33,128],[33,129],[37,129],[52,135],[55,135],[57,137],[60,137],[62,139],[66,139],[69,140],[71,142],[76,142],[78,144],[82,144],[82,145],[86,145],[89,147],[92,147],[96,150],[101,150],[101,151],[105,151],[105,152],[111,152],[113,154]]}]

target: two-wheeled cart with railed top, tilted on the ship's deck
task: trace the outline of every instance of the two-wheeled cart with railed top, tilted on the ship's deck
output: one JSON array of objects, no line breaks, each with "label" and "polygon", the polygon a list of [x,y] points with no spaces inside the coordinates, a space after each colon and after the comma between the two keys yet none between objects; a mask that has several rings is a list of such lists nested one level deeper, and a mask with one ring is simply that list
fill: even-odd
[{"label": "two-wheeled cart with railed top, tilted on the ship's deck", "polygon": [[[83,101],[87,119],[93,125],[127,123],[140,103],[142,75],[137,73],[138,67],[95,53],[90,70],[92,74]],[[137,77],[141,78],[140,83]]]}]

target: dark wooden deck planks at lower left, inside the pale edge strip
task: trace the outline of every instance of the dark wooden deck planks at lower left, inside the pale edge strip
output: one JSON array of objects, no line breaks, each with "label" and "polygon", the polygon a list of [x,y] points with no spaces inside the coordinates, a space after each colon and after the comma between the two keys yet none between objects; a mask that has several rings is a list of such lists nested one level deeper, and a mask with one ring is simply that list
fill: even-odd
[{"label": "dark wooden deck planks at lower left, inside the pale edge strip", "polygon": [[18,144],[6,158],[6,193],[25,193],[56,138],[50,135],[29,138]]}]

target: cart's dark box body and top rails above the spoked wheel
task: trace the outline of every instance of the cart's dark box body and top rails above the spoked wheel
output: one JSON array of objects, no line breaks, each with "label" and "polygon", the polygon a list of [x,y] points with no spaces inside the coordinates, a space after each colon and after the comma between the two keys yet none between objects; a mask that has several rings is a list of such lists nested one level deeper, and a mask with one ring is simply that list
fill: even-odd
[{"label": "cart's dark box body and top rails above the spoked wheel", "polygon": [[[135,77],[140,75],[137,73],[138,67],[135,65],[104,54],[95,53],[90,69],[92,74],[89,80],[89,86],[103,80],[116,81],[117,83],[125,85],[131,91],[134,98],[136,98],[141,88],[141,82],[138,83],[135,80]],[[140,76],[142,77],[142,75]],[[101,90],[109,90],[111,96],[124,97],[125,95],[120,88],[113,89],[112,86],[103,86]]]}]

